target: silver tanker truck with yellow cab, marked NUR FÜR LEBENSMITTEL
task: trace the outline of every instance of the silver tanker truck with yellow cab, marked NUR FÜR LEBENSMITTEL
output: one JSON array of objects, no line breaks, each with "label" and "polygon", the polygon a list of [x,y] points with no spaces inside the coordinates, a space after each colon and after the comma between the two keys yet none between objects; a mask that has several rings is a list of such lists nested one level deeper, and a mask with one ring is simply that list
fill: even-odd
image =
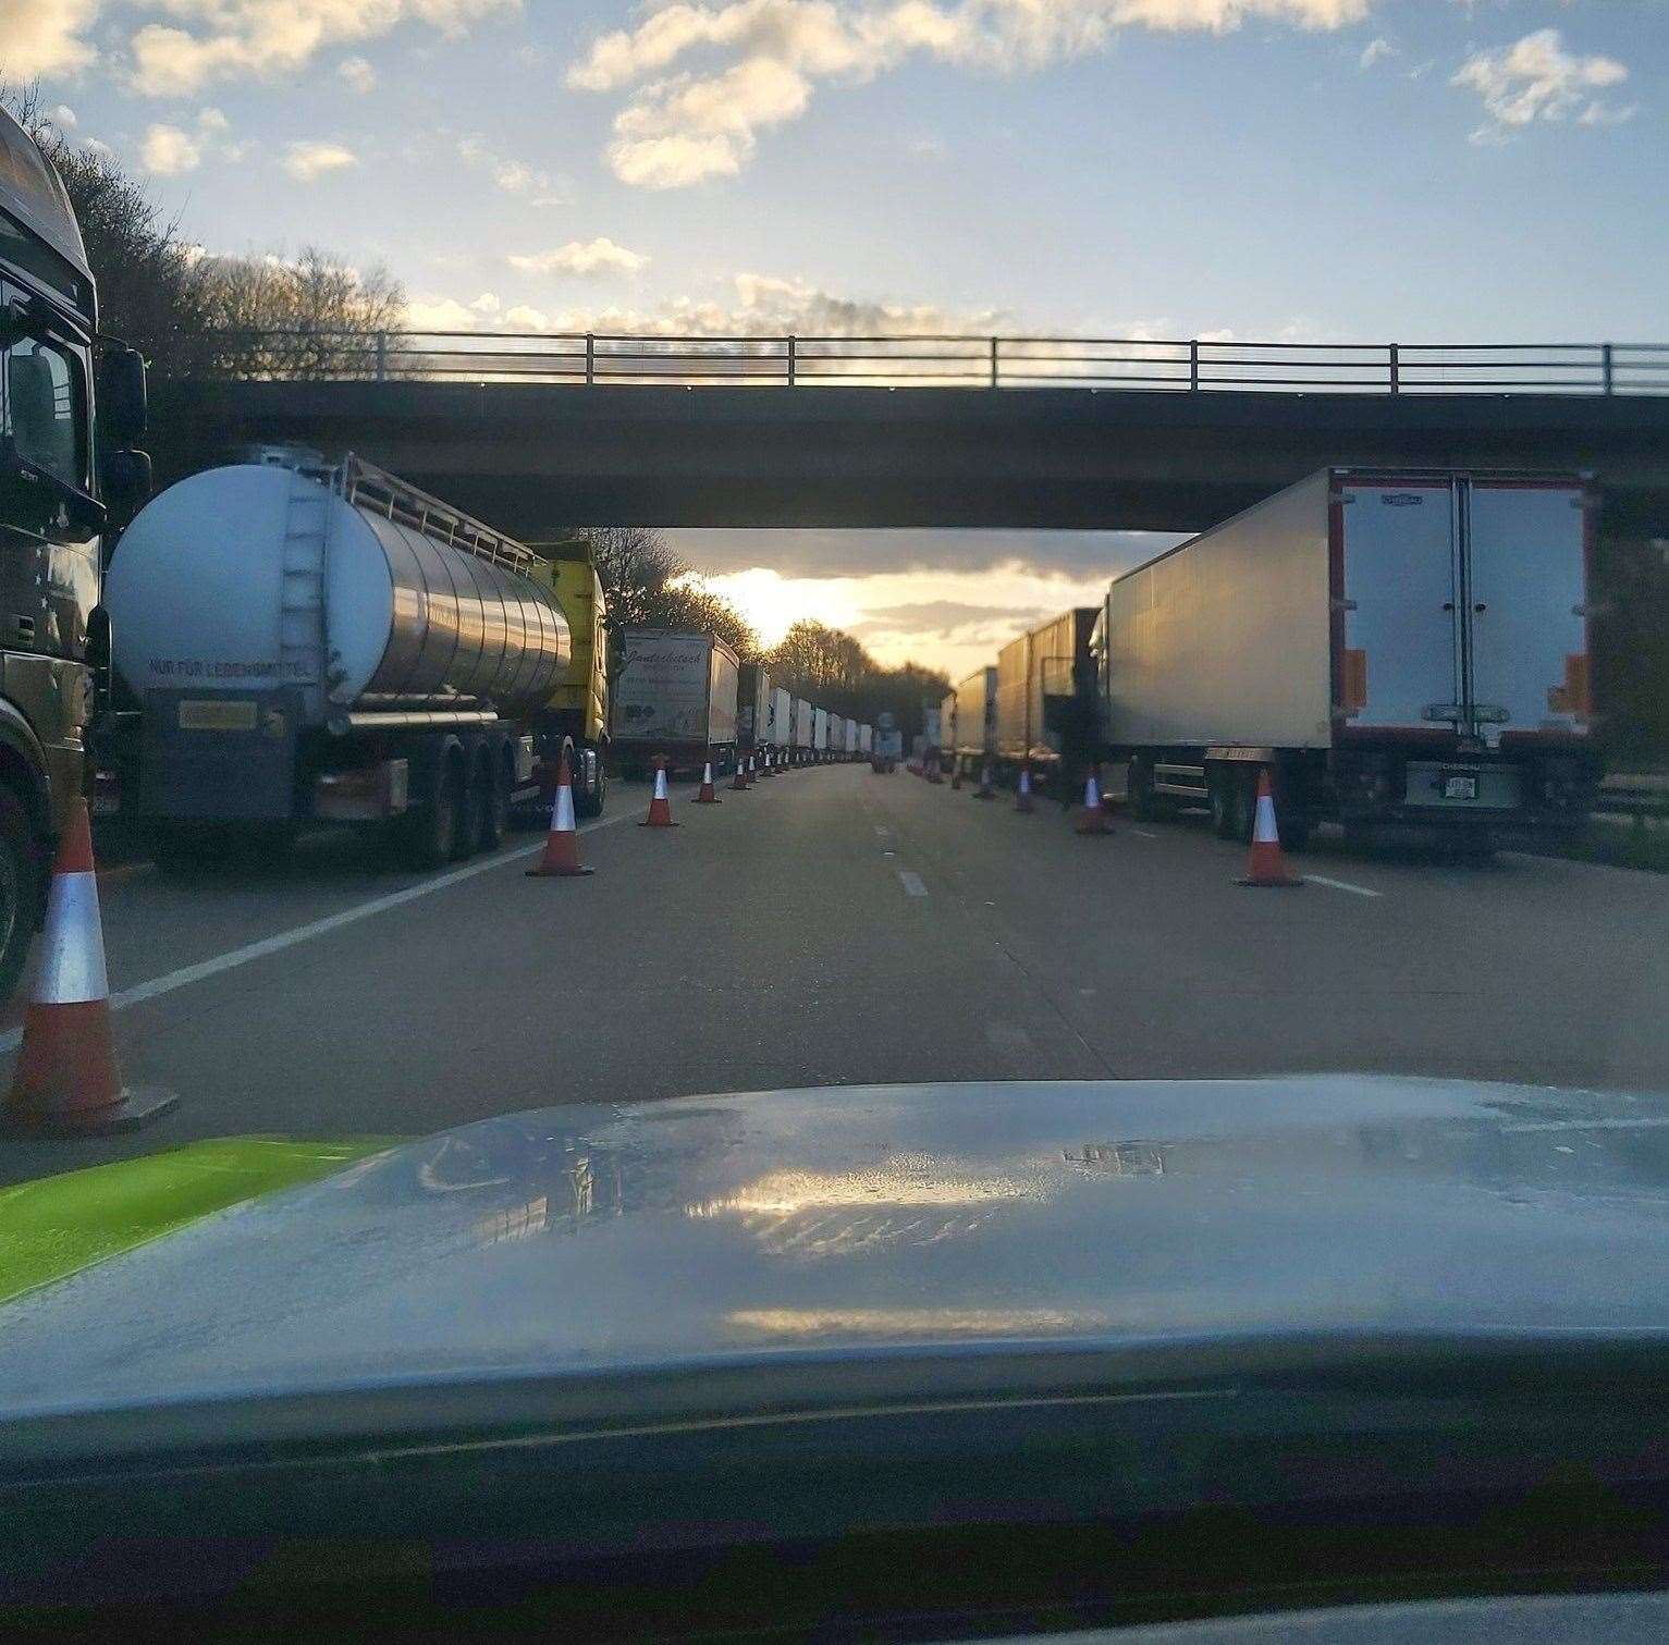
[{"label": "silver tanker truck with yellow cab, marked NUR F\u00dcR LEBENSMITTEL", "polygon": [[461,861],[564,752],[576,809],[601,809],[606,684],[572,681],[576,656],[603,667],[589,561],[541,561],[352,455],[249,457],[142,509],[107,577],[113,786],[159,866],[325,822]]}]

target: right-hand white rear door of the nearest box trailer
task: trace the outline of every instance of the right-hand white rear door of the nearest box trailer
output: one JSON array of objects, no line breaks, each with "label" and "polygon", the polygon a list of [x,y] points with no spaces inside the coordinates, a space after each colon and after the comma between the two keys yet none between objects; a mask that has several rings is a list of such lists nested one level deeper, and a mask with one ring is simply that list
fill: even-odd
[{"label": "right-hand white rear door of the nearest box trailer", "polygon": [[1479,731],[1577,731],[1587,719],[1581,484],[1464,484],[1472,699]]}]

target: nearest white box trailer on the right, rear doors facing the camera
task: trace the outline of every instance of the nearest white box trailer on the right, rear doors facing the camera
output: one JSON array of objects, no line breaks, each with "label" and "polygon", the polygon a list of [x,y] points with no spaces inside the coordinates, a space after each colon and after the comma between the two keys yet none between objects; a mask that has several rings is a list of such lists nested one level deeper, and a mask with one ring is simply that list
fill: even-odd
[{"label": "nearest white box trailer on the right, rear doors facing the camera", "polygon": [[1132,809],[1247,838],[1267,767],[1288,844],[1579,828],[1594,517],[1569,474],[1324,469],[1118,577],[1093,649]]}]

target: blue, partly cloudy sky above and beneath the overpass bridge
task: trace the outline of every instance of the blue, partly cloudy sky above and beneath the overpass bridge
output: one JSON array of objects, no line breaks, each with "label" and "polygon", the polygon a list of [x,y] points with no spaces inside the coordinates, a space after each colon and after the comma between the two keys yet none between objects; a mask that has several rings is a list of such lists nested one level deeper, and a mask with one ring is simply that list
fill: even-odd
[{"label": "blue, partly cloudy sky above and beneath the overpass bridge", "polygon": [[[0,0],[0,73],[422,327],[1669,337],[1669,0]],[[678,534],[953,672],[1163,541]]]}]

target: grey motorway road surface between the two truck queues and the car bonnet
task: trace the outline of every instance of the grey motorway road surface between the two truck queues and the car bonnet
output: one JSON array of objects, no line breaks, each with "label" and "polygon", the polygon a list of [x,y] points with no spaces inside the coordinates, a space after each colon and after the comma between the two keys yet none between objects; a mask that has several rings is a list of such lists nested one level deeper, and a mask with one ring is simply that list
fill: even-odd
[{"label": "grey motorway road surface between the two truck queues and the car bonnet", "polygon": [[180,1106],[132,1136],[0,1141],[0,1181],[776,1086],[1362,1069],[1669,1091],[1669,878],[1322,838],[1302,891],[1247,891],[1243,848],[1198,821],[1082,839],[1053,804],[905,771],[796,771],[718,807],[681,786],[669,833],[634,826],[644,792],[586,826],[581,881],[524,878],[522,836],[429,876],[330,834],[272,871],[118,871],[124,1071]]}]

